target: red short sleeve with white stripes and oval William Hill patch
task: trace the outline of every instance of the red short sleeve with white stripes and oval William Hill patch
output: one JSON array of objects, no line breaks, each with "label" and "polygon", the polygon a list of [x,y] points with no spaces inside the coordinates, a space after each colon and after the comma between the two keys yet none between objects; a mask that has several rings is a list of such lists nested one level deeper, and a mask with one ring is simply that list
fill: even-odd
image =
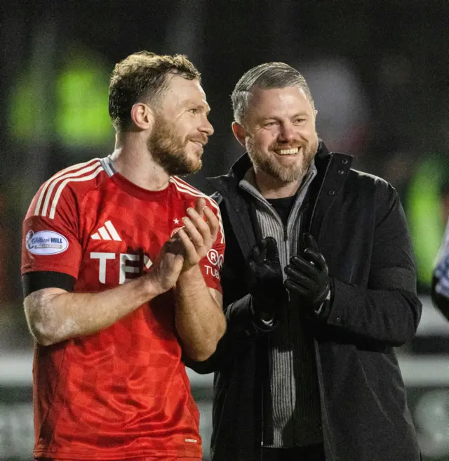
[{"label": "red short sleeve with white stripes and oval William Hill patch", "polygon": [[76,197],[69,188],[65,188],[50,213],[41,202],[43,190],[45,184],[32,200],[23,221],[22,275],[53,271],[78,278],[81,245]]}]

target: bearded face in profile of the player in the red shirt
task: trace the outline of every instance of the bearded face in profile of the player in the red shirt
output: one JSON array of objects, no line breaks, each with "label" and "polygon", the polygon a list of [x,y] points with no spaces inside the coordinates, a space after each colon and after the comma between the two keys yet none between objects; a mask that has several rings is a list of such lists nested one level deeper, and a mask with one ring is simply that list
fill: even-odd
[{"label": "bearded face in profile of the player in the red shirt", "polygon": [[169,175],[194,173],[201,168],[203,147],[213,134],[210,108],[197,79],[173,74],[167,78],[147,147]]}]

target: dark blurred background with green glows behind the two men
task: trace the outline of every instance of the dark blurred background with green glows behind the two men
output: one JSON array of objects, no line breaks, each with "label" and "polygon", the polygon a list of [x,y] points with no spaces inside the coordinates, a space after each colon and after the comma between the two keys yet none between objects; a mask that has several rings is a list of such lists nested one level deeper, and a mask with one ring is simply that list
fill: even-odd
[{"label": "dark blurred background with green glows behind the two men", "polygon": [[[32,339],[22,311],[21,224],[56,171],[114,147],[114,63],[140,50],[199,67],[215,134],[206,192],[242,153],[230,93],[243,72],[284,61],[304,74],[318,131],[401,195],[424,311],[398,349],[424,460],[449,460],[449,323],[429,301],[449,216],[449,1],[0,1],[0,459],[32,449]],[[208,459],[211,377],[190,375]],[[351,460],[344,460],[351,461]],[[389,460],[386,460],[389,461]],[[405,461],[405,460],[404,460]]]}]

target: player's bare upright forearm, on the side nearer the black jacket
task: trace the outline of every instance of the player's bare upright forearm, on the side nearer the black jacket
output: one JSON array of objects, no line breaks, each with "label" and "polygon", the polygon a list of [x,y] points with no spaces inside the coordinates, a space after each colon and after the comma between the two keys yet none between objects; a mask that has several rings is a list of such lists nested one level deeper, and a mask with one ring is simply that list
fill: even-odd
[{"label": "player's bare upright forearm, on the side nearer the black jacket", "polygon": [[226,329],[221,303],[214,299],[198,265],[181,273],[175,287],[175,325],[185,353],[206,360]]}]

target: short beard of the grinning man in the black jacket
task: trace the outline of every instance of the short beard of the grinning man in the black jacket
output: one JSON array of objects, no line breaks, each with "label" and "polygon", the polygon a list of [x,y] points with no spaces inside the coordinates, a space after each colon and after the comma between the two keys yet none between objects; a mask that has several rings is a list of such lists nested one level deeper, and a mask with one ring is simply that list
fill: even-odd
[{"label": "short beard of the grinning man in the black jacket", "polygon": [[256,169],[261,169],[264,173],[272,176],[272,178],[279,179],[283,183],[291,183],[304,177],[307,173],[311,162],[313,162],[316,152],[318,150],[318,136],[312,143],[290,143],[288,147],[274,145],[270,146],[269,150],[273,151],[274,148],[288,149],[298,148],[298,151],[302,149],[302,153],[298,152],[296,155],[302,155],[302,162],[300,164],[285,165],[281,162],[276,162],[276,157],[267,157],[264,153],[260,153],[250,139],[246,143],[248,155]]}]

